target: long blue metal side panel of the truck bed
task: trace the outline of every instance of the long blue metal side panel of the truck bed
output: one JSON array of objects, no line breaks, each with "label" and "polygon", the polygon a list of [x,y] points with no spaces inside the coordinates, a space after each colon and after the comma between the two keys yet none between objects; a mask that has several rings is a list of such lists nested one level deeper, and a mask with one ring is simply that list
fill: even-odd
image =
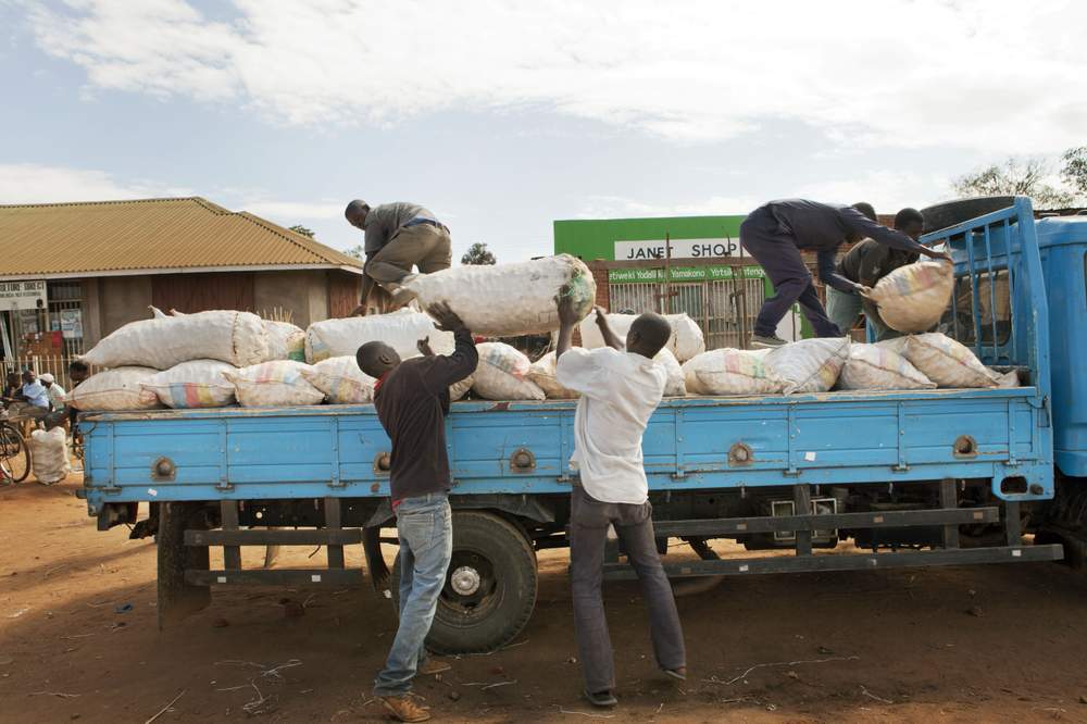
[{"label": "long blue metal side panel of the truck bed", "polygon": [[[666,400],[645,436],[646,471],[658,490],[887,483],[1024,476],[1052,495],[1048,428],[1033,388],[830,392],[797,397]],[[572,402],[457,403],[447,420],[454,491],[570,490]],[[371,405],[237,408],[91,415],[84,421],[88,504],[130,500],[375,497],[388,476],[375,466],[389,441]],[[953,454],[970,435],[978,453]],[[753,452],[730,465],[736,442]],[[518,450],[535,467],[511,469]],[[155,479],[168,459],[173,479]]]}]

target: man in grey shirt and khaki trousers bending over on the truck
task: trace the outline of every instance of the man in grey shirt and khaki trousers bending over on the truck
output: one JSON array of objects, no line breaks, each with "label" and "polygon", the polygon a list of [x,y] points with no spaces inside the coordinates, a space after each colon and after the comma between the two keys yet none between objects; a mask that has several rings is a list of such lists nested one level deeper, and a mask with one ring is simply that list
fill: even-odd
[{"label": "man in grey shirt and khaki trousers bending over on the truck", "polygon": [[417,203],[397,201],[371,209],[362,199],[355,199],[347,204],[343,215],[351,226],[366,234],[362,299],[352,315],[364,313],[375,284],[392,295],[393,308],[403,307],[412,295],[400,285],[411,276],[413,266],[423,274],[433,274],[452,265],[449,228]]}]

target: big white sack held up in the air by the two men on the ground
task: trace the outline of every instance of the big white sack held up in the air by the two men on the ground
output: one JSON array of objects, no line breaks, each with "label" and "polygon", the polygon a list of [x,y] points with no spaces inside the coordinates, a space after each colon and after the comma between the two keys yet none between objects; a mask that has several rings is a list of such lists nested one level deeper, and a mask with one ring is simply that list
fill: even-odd
[{"label": "big white sack held up in the air by the two men on the ground", "polygon": [[416,295],[424,309],[446,302],[468,329],[489,337],[558,329],[555,300],[564,287],[578,319],[589,313],[597,296],[589,267],[570,254],[493,266],[455,266],[421,274],[404,287]]}]

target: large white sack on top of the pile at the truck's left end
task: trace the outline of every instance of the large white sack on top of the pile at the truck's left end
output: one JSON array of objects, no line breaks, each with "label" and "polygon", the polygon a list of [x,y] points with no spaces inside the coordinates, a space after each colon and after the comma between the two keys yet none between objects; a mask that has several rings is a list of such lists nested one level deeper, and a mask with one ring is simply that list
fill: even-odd
[{"label": "large white sack on top of the pile at the truck's left end", "polygon": [[140,320],[113,332],[82,357],[101,367],[168,370],[189,360],[220,360],[240,367],[267,357],[261,317],[250,312],[198,312]]}]

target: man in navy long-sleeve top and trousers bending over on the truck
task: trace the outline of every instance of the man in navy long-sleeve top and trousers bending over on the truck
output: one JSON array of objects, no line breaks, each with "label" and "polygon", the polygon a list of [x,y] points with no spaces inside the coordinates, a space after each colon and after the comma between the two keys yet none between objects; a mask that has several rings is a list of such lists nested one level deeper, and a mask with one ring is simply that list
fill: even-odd
[{"label": "man in navy long-sleeve top and trousers bending over on the truck", "polygon": [[800,250],[816,251],[819,274],[824,284],[841,291],[859,291],[859,285],[838,275],[835,255],[845,241],[859,241],[864,237],[895,249],[946,258],[940,252],[922,247],[901,232],[877,224],[875,212],[866,203],[842,207],[805,199],[783,199],[752,211],[740,225],[740,244],[762,265],[776,292],[759,312],[753,346],[776,347],[785,344],[775,332],[777,323],[795,302],[800,303],[816,336],[840,336],[841,330],[826,316]]}]

